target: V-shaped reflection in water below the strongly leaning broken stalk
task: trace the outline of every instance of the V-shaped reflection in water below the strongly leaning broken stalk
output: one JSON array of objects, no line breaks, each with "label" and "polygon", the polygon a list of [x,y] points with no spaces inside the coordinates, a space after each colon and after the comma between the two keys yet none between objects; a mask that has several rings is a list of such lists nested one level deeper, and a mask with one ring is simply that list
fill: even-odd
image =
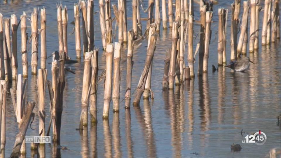
[{"label": "V-shaped reflection in water below the strongly leaning broken stalk", "polygon": [[134,106],[136,117],[142,128],[145,142],[147,145],[147,157],[157,157],[154,132],[151,124],[151,109],[148,99],[143,100],[144,114],[142,114],[139,106]]}]

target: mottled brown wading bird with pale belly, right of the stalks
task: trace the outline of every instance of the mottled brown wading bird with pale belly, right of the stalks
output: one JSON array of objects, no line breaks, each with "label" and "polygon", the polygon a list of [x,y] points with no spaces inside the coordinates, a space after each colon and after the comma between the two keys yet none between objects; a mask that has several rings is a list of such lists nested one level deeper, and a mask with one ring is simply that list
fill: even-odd
[{"label": "mottled brown wading bird with pale belly, right of the stalks", "polygon": [[[245,71],[249,68],[250,62],[253,63],[249,57],[244,56],[241,59],[238,59],[236,61],[232,61],[229,65],[225,66],[227,68],[231,68],[234,71]],[[253,63],[255,64],[255,63]]]}]

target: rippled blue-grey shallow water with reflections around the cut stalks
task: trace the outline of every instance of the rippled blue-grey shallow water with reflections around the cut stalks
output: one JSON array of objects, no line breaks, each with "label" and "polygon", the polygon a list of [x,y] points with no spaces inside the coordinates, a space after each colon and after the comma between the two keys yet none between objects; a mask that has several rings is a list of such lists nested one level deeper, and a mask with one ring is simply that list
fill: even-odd
[{"label": "rippled blue-grey shallow water with reflections around the cut stalks", "polygon": [[[1,1],[1,13],[4,17],[16,14],[19,17],[25,11],[30,16],[33,7],[46,8],[47,14],[47,55],[58,50],[56,3],[60,1],[23,0]],[[73,4],[76,1],[62,1],[68,8],[68,33],[72,32]],[[97,1],[94,11],[99,11]],[[144,1],[144,7],[148,2]],[[251,64],[245,73],[232,72],[224,69],[212,73],[211,65],[217,65],[217,9],[229,9],[231,17],[231,0],[219,1],[214,5],[211,25],[212,38],[210,43],[208,76],[196,77],[184,85],[175,87],[174,91],[162,91],[162,76],[165,52],[171,47],[171,30],[160,30],[156,51],[153,59],[152,90],[154,99],[142,100],[140,107],[131,106],[131,110],[124,109],[121,101],[119,116],[112,112],[109,121],[102,120],[103,84],[98,85],[96,126],[89,124],[88,131],[79,133],[75,128],[79,126],[81,91],[83,80],[83,60],[72,66],[76,75],[66,73],[64,90],[64,106],[61,126],[61,146],[69,150],[61,150],[61,157],[265,157],[271,148],[280,147],[280,126],[276,116],[280,114],[281,70],[280,70],[280,40],[271,47],[260,47],[258,52],[247,54],[256,63]],[[263,2],[262,2],[263,3]],[[117,4],[117,1],[112,1]],[[161,6],[161,4],[160,4]],[[262,4],[263,6],[263,4]],[[131,17],[131,2],[127,1],[128,17]],[[195,20],[199,20],[199,5],[194,4]],[[241,6],[241,13],[243,8]],[[113,13],[112,13],[113,15]],[[113,15],[114,17],[114,15]],[[147,17],[141,10],[141,17]],[[230,18],[227,27],[227,59],[230,56]],[[260,29],[262,29],[263,11],[260,14]],[[30,23],[27,22],[30,34]],[[95,47],[102,50],[100,23],[98,13],[94,16]],[[145,28],[146,21],[142,21]],[[128,28],[132,28],[132,21],[128,19]],[[160,27],[162,28],[162,26]],[[144,31],[144,30],[143,30]],[[194,23],[194,36],[200,31],[198,23]],[[118,35],[113,41],[118,41]],[[81,38],[82,39],[82,38]],[[199,36],[194,39],[194,50]],[[261,31],[260,31],[261,45]],[[132,89],[135,89],[144,66],[147,40],[143,40],[139,47],[135,47],[133,55]],[[40,44],[38,49],[40,50]],[[30,63],[30,51],[28,59]],[[68,35],[69,56],[75,59],[75,36]],[[22,73],[20,57],[20,28],[18,29],[18,73]],[[40,59],[40,54],[38,54]],[[185,59],[187,59],[187,44]],[[195,72],[197,72],[198,56],[195,57]],[[51,59],[47,60],[47,63]],[[186,62],[187,64],[187,62]],[[40,66],[40,60],[38,60]],[[105,67],[105,56],[99,51],[99,74]],[[38,67],[39,68],[39,67]],[[122,100],[126,88],[126,44],[121,54],[121,87]],[[47,79],[51,80],[51,65]],[[29,74],[30,74],[29,69]],[[36,76],[28,76],[28,100],[37,100]],[[48,94],[48,92],[46,92]],[[133,95],[132,95],[133,96]],[[35,121],[26,135],[38,135],[38,108],[35,106]],[[46,112],[49,115],[49,97],[46,95]],[[16,117],[8,94],[6,112],[6,147],[5,156],[11,154],[18,132]],[[48,124],[50,117],[47,117]],[[46,125],[47,126],[47,125]],[[241,136],[241,130],[245,132]],[[264,145],[242,143],[247,133],[261,130],[267,135]],[[240,144],[241,152],[231,152],[230,145]],[[27,157],[31,157],[30,145],[27,144]],[[52,146],[46,145],[46,157],[52,157]]]}]

